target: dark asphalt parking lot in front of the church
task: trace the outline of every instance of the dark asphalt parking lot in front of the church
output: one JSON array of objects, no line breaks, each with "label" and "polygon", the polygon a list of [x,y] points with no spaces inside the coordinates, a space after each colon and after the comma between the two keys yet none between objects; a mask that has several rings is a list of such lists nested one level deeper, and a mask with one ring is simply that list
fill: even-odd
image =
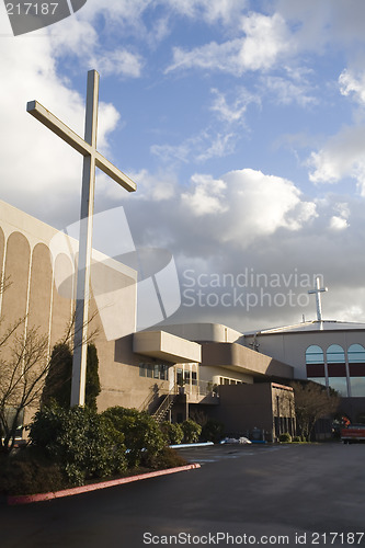
[{"label": "dark asphalt parking lot in front of the church", "polygon": [[201,468],[50,502],[2,504],[1,547],[365,547],[365,445],[179,450]]}]

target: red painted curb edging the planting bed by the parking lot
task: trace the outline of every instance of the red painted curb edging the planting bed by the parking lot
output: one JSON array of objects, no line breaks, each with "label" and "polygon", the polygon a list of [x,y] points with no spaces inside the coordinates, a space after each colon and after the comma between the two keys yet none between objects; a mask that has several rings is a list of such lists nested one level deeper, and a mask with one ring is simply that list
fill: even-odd
[{"label": "red painted curb edging the planting bed by the parking lot", "polygon": [[127,478],[119,478],[110,481],[101,481],[100,483],[75,487],[71,489],[64,489],[62,491],[55,491],[50,493],[21,494],[15,496],[9,495],[7,502],[10,506],[14,506],[16,504],[30,504],[32,502],[50,501],[53,499],[61,499],[62,496],[72,496],[73,494],[81,494],[81,493],[87,493],[89,491],[98,491],[99,489],[106,489],[109,487],[122,486],[123,483],[132,483],[133,481],[139,481],[148,478],[156,478],[158,476],[167,476],[169,473],[194,470],[195,468],[201,468],[201,465],[193,464],[193,465],[179,466],[176,468],[167,468],[166,470],[156,470],[155,472],[139,473],[138,476],[128,476]]}]

